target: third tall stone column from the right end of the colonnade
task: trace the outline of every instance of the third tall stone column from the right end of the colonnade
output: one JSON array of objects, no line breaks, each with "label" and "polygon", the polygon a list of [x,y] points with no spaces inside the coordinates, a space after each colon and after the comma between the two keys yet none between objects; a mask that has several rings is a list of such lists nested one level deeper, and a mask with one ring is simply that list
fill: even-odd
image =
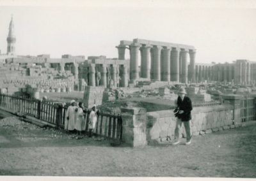
[{"label": "third tall stone column from the right end of the colonnade", "polygon": [[180,73],[179,73],[179,48],[172,48],[171,51],[171,81],[179,82]]}]

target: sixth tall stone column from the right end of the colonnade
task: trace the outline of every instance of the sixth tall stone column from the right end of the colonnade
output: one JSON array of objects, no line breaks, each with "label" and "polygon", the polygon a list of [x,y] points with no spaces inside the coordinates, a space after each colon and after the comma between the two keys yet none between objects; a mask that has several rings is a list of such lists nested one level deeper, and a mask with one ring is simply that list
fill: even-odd
[{"label": "sixth tall stone column from the right end of the colonnade", "polygon": [[141,47],[141,77],[150,78],[150,45]]}]

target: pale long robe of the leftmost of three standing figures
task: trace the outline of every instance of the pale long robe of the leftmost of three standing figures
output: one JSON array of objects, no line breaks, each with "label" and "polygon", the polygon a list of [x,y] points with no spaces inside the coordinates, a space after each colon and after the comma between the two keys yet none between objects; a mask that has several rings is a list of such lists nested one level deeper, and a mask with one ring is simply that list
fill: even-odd
[{"label": "pale long robe of the leftmost of three standing figures", "polygon": [[[77,106],[68,106],[65,119],[65,130],[74,130],[76,125],[76,109]],[[67,117],[69,119],[67,119]]]}]

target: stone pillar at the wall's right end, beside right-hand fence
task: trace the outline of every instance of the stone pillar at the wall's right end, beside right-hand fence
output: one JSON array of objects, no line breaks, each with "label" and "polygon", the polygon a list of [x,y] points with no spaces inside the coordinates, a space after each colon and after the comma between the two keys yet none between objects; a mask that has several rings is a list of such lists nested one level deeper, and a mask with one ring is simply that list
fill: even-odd
[{"label": "stone pillar at the wall's right end, beside right-hand fence", "polygon": [[228,94],[223,95],[224,103],[230,103],[233,106],[233,121],[234,124],[241,124],[241,95]]}]

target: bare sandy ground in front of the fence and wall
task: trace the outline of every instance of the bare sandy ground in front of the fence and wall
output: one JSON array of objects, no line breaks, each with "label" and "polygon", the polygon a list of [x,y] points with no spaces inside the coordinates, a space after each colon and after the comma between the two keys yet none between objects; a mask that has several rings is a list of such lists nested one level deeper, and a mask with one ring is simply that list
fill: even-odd
[{"label": "bare sandy ground in front of the fence and wall", "polygon": [[0,175],[256,178],[255,150],[256,126],[196,136],[189,146],[131,148],[0,120]]}]

